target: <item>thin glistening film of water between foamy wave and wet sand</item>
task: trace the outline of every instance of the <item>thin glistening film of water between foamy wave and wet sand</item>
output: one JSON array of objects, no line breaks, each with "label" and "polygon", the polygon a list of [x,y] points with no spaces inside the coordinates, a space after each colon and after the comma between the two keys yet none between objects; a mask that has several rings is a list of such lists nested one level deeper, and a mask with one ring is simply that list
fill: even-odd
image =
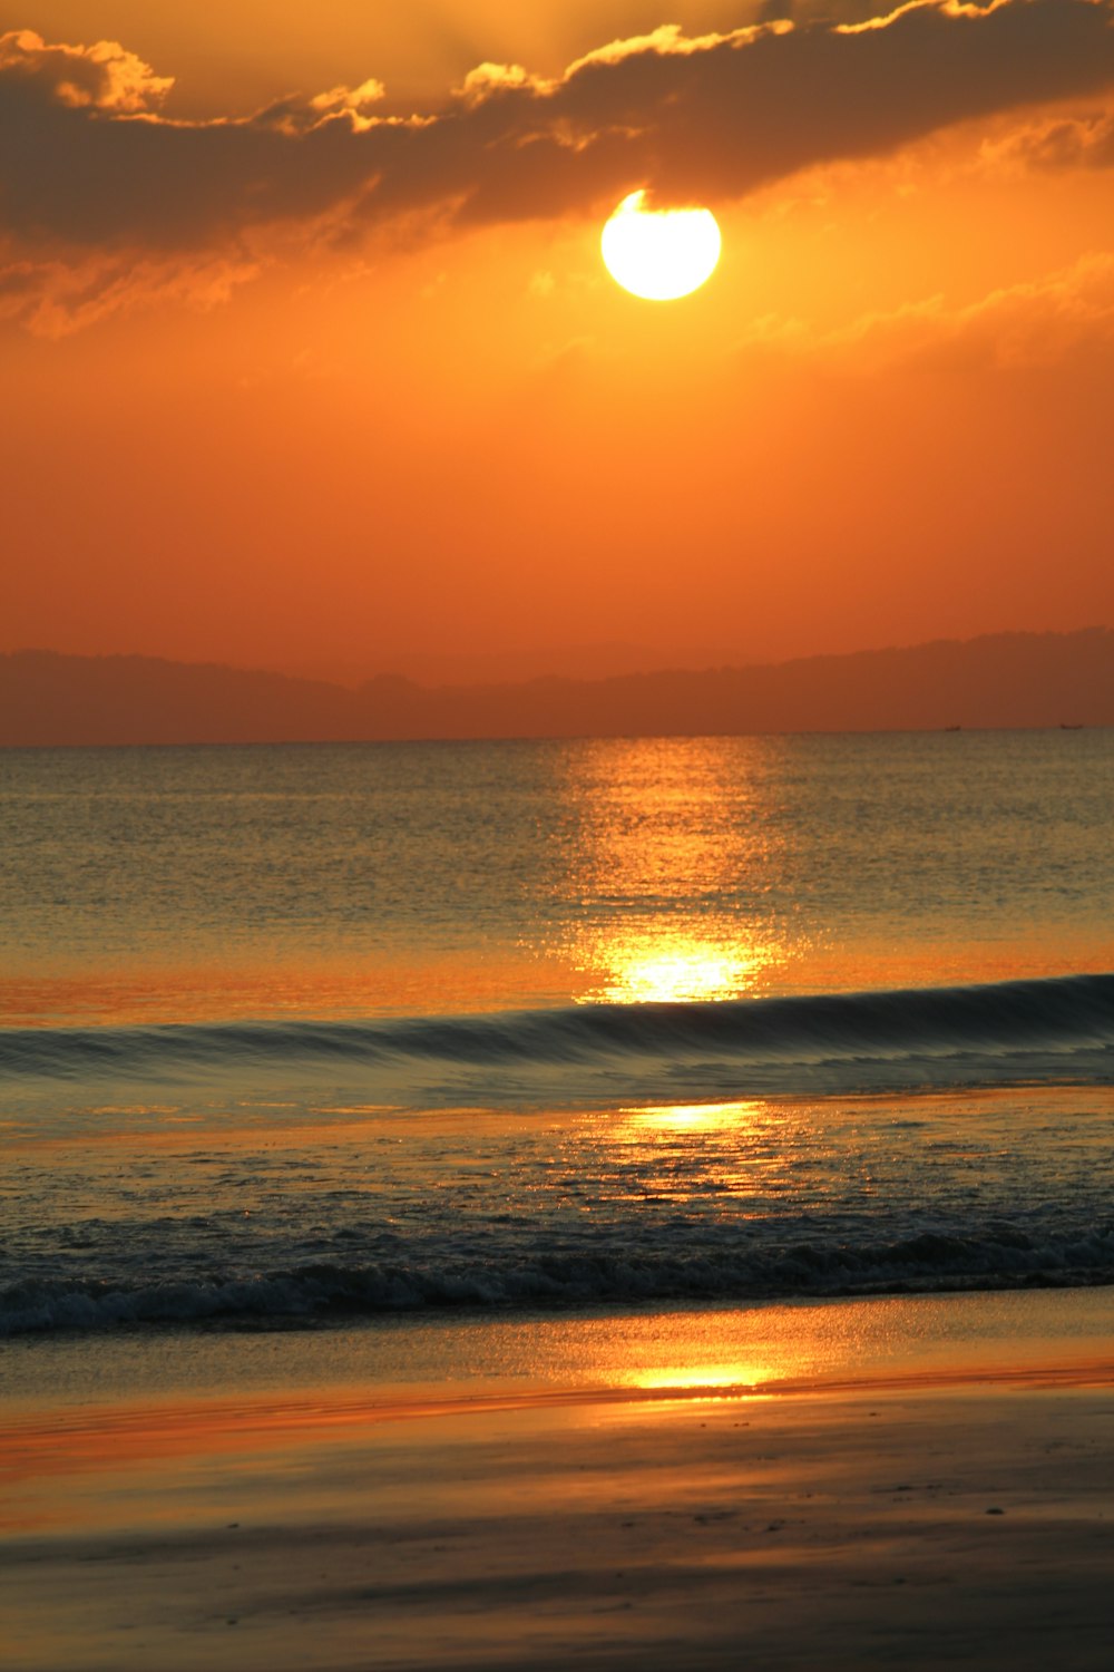
[{"label": "thin glistening film of water between foamy wave and wet sand", "polygon": [[302,1328],[122,1326],[0,1344],[0,1423],[43,1406],[284,1399],[441,1401],[623,1386],[678,1389],[949,1379],[1102,1361],[1114,1287],[982,1289],[581,1309],[426,1311]]}]

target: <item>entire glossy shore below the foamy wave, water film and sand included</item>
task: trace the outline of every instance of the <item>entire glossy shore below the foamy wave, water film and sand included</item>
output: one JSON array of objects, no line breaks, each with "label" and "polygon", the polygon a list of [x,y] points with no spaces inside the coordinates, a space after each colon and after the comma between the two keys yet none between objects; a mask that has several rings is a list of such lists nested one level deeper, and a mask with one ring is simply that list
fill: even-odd
[{"label": "entire glossy shore below the foamy wave, water film and sand included", "polygon": [[1114,1289],[0,1349],[12,1672],[1106,1672]]}]

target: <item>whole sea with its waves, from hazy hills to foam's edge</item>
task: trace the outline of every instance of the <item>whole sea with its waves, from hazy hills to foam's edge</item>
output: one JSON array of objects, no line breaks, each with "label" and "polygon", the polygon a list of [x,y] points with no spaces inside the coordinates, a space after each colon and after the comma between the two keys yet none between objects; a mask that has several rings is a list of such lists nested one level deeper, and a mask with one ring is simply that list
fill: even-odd
[{"label": "whole sea with its waves, from hazy hills to foam's edge", "polygon": [[1114,1281],[1114,732],[0,752],[0,1333]]}]

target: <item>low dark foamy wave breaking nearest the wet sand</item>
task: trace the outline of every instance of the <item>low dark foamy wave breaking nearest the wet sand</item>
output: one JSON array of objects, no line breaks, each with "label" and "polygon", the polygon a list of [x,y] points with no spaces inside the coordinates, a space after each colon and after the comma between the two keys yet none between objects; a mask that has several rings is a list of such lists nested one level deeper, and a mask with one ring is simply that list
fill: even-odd
[{"label": "low dark foamy wave breaking nearest the wet sand", "polygon": [[534,1252],[514,1262],[309,1262],[190,1281],[27,1281],[0,1291],[0,1338],[127,1324],[337,1321],[423,1309],[538,1309],[671,1301],[1077,1287],[1114,1281],[1114,1222],[1042,1241],[1005,1227],[865,1244],[797,1242],[720,1256],[703,1249]]}]

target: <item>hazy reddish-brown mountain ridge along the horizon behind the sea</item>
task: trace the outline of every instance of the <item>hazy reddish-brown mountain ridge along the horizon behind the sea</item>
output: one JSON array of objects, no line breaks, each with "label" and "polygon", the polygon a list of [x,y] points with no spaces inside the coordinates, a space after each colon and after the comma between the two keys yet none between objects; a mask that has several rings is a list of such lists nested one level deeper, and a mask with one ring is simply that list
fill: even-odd
[{"label": "hazy reddish-brown mountain ridge along the horizon behind the sea", "polygon": [[1114,632],[1007,632],[792,662],[418,686],[145,655],[0,655],[0,746],[717,736],[1114,726]]}]

